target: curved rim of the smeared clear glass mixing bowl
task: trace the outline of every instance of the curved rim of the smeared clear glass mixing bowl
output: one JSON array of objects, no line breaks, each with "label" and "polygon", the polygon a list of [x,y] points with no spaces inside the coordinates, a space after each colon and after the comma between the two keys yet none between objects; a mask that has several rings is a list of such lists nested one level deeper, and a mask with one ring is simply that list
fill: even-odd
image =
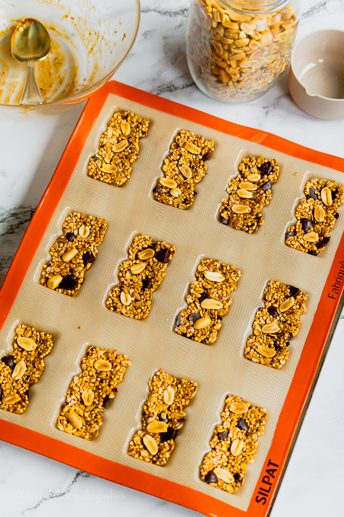
[{"label": "curved rim of the smeared clear glass mixing bowl", "polygon": [[136,38],[137,38],[138,29],[139,29],[139,26],[140,26],[140,19],[141,19],[140,0],[135,0],[135,2],[136,2],[136,6],[137,6],[136,27],[135,27],[135,31],[133,33],[132,41],[130,43],[128,51],[126,52],[126,54],[124,54],[124,56],[122,57],[120,62],[116,65],[116,67],[113,70],[111,70],[110,73],[105,75],[105,77],[103,79],[101,79],[100,81],[98,81],[95,84],[92,84],[91,86],[89,86],[88,88],[83,90],[82,92],[79,92],[79,93],[74,94],[74,95],[70,95],[69,97],[65,97],[64,99],[58,99],[58,100],[54,100],[54,101],[51,101],[51,102],[43,102],[43,104],[34,104],[34,105],[31,105],[31,106],[23,106],[21,104],[3,104],[3,103],[0,103],[0,107],[1,108],[3,108],[3,107],[14,108],[14,109],[17,109],[17,110],[18,110],[18,108],[20,108],[20,109],[24,108],[24,109],[28,109],[28,110],[31,109],[32,110],[33,108],[44,109],[45,106],[49,106],[50,107],[50,106],[57,106],[57,105],[63,105],[63,104],[68,105],[68,104],[74,104],[74,103],[78,103],[78,102],[83,102],[84,100],[86,100],[92,94],[92,92],[94,90],[96,90],[102,84],[105,84],[109,79],[111,79],[111,77],[114,75],[116,70],[121,66],[121,64],[124,62],[124,60],[128,57],[129,52],[133,48],[133,45],[134,45],[134,43],[136,41]]}]

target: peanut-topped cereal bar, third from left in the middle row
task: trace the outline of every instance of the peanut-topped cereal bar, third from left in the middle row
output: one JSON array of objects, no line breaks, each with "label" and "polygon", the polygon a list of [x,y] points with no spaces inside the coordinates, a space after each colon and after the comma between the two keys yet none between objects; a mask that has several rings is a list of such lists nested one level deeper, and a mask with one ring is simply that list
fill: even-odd
[{"label": "peanut-topped cereal bar, third from left in the middle row", "polygon": [[195,274],[197,280],[191,283],[186,296],[187,308],[178,315],[175,331],[211,345],[233,301],[230,293],[236,290],[241,271],[208,258],[202,260]]}]

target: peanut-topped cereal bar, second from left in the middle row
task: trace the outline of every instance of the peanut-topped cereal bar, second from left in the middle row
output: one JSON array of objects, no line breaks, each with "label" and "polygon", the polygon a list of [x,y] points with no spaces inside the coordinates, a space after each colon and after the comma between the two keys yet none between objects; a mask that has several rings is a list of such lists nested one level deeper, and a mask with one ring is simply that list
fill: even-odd
[{"label": "peanut-topped cereal bar, second from left in the middle row", "polygon": [[152,294],[175,253],[176,248],[166,242],[154,242],[143,234],[134,237],[128,260],[119,266],[119,283],[107,295],[106,307],[135,320],[148,316]]}]

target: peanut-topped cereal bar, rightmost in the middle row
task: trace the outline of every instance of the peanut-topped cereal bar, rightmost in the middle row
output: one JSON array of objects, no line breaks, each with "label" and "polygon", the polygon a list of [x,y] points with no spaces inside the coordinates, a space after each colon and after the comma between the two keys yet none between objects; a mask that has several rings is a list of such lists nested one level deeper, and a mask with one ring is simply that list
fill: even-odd
[{"label": "peanut-topped cereal bar, rightmost in the middle row", "polygon": [[306,312],[307,293],[278,280],[269,280],[259,307],[253,334],[247,338],[244,356],[272,368],[282,368],[289,357],[290,340],[301,326]]}]

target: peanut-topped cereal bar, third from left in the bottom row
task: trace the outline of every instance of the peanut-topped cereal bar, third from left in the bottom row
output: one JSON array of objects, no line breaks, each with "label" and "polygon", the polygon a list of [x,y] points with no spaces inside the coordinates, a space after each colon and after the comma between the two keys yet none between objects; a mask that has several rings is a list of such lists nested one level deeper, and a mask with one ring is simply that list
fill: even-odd
[{"label": "peanut-topped cereal bar, third from left in the bottom row", "polygon": [[142,427],[129,443],[128,454],[154,465],[165,465],[185,422],[184,407],[197,391],[197,383],[158,371],[149,381]]}]

